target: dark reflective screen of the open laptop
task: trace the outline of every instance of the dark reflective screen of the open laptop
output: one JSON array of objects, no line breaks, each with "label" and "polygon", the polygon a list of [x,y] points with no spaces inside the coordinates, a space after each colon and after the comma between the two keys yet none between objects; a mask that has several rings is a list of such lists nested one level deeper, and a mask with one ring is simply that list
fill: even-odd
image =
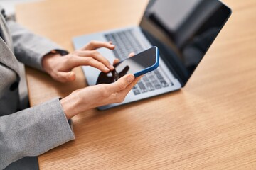
[{"label": "dark reflective screen of the open laptop", "polygon": [[140,27],[185,86],[230,14],[218,0],[151,0]]}]

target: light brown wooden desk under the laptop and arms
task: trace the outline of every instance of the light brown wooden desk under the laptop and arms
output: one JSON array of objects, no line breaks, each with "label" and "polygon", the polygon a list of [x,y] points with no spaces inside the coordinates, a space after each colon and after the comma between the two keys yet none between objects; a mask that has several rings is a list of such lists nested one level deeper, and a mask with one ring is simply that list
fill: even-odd
[{"label": "light brown wooden desk under the laptop and arms", "polygon": [[[73,118],[76,140],[41,169],[255,169],[256,1],[224,0],[233,16],[181,91]],[[24,26],[73,50],[75,35],[138,23],[146,0],[48,0],[17,6]],[[85,87],[26,68],[34,106]]]}]

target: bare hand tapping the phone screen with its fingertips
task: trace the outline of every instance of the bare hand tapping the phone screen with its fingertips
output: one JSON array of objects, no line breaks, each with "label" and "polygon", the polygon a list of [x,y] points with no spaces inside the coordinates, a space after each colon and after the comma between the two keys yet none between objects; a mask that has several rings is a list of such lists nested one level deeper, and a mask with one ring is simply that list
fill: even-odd
[{"label": "bare hand tapping the phone screen with its fingertips", "polygon": [[102,72],[110,72],[114,67],[110,62],[96,51],[97,48],[106,47],[114,49],[112,42],[91,41],[80,50],[71,52],[68,55],[49,54],[43,57],[43,69],[50,74],[53,79],[66,82],[75,80],[73,68],[87,65],[100,69]]}]

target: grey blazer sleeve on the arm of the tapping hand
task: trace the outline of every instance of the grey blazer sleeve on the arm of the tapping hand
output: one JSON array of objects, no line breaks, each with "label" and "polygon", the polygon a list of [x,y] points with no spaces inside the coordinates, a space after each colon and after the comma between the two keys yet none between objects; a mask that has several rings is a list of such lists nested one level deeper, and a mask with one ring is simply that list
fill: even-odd
[{"label": "grey blazer sleeve on the arm of the tapping hand", "polygon": [[35,35],[14,21],[7,21],[17,59],[24,64],[42,70],[41,60],[51,50],[59,50],[63,55],[68,54],[55,42]]}]

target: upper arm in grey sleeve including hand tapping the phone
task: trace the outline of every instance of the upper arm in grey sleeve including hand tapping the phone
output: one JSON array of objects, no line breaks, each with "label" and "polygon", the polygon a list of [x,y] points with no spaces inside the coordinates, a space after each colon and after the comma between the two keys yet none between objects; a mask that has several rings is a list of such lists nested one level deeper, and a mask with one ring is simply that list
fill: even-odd
[{"label": "upper arm in grey sleeve including hand tapping the phone", "polygon": [[[7,25],[17,59],[28,66],[47,72],[57,81],[75,80],[75,72],[72,72],[72,69],[81,65],[90,65],[102,72],[114,69],[112,64],[96,51],[100,47],[113,50],[112,42],[92,41],[80,50],[68,54],[54,42],[31,33],[14,21],[7,20]],[[58,53],[54,54],[52,51]]]}]

